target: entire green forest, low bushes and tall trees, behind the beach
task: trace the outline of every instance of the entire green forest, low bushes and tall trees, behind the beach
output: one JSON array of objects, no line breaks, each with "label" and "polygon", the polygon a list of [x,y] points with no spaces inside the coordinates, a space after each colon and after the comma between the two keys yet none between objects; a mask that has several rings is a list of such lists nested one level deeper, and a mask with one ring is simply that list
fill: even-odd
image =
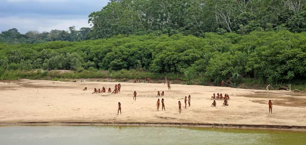
[{"label": "entire green forest, low bushes and tall trees, behind the beach", "polygon": [[[305,5],[305,0],[111,0],[89,15],[91,28],[43,32],[35,39],[33,31],[25,36],[17,29],[3,31],[0,78],[10,70],[38,68],[141,68],[234,84],[243,78],[272,84],[305,80]],[[17,43],[20,35],[31,42]]]}]

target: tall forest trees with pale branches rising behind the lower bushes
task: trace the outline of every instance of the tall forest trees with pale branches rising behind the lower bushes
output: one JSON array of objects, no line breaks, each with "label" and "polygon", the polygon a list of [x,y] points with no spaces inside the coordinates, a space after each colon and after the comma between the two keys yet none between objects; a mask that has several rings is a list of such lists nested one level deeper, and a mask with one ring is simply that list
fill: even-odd
[{"label": "tall forest trees with pale branches rising behind the lower bushes", "polygon": [[288,29],[306,31],[306,0],[110,0],[89,15],[89,39]]}]

